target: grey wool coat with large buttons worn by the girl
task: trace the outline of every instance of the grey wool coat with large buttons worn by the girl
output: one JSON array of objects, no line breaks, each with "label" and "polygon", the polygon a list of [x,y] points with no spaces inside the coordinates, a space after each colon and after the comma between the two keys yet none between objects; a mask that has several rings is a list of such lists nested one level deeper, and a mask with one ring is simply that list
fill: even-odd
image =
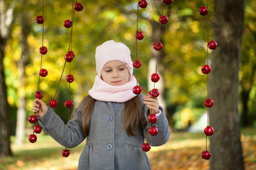
[{"label": "grey wool coat with large buttons worn by the girl", "polygon": [[[39,122],[43,129],[64,147],[76,147],[87,138],[80,155],[79,170],[148,170],[151,167],[146,152],[142,150],[142,144],[148,134],[149,109],[143,103],[143,96],[144,94],[139,95],[143,111],[142,123],[136,130],[136,136],[129,137],[125,130],[122,115],[124,103],[95,101],[87,137],[82,133],[82,108],[74,111],[74,118],[67,125],[51,108],[39,118]],[[162,113],[155,123],[159,133],[156,136],[148,135],[151,146],[164,145],[169,140],[168,121],[161,107],[160,110]]]}]

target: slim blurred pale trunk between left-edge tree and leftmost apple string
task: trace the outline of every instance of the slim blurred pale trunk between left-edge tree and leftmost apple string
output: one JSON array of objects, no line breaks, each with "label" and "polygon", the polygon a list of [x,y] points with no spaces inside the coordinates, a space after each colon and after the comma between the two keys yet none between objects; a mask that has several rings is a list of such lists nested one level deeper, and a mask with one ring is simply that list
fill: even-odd
[{"label": "slim blurred pale trunk between left-edge tree and leftmost apple string", "polygon": [[[22,2],[23,5],[27,4],[26,1]],[[24,142],[25,136],[25,123],[26,123],[26,95],[25,91],[25,70],[29,59],[29,47],[28,47],[28,34],[31,30],[30,21],[31,16],[29,13],[21,13],[21,58],[18,61],[18,73],[20,74],[20,85],[18,86],[18,111],[16,121],[16,145],[21,146]]]}]

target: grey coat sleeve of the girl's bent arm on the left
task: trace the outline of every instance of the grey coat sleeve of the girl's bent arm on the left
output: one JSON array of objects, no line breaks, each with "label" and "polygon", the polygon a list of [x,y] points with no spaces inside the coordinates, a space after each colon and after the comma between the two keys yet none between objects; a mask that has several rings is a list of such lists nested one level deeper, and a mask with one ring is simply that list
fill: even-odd
[{"label": "grey coat sleeve of the girl's bent arm on the left", "polygon": [[82,133],[81,115],[82,112],[76,108],[74,118],[69,120],[67,125],[54,113],[53,109],[48,107],[48,111],[43,117],[38,118],[43,129],[60,145],[67,148],[78,146],[85,136]]}]

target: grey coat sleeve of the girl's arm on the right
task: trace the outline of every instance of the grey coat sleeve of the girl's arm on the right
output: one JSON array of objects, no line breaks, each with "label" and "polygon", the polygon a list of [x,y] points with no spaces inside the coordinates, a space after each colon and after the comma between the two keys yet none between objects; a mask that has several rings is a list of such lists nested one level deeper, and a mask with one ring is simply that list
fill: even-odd
[{"label": "grey coat sleeve of the girl's arm on the right", "polygon": [[169,130],[169,123],[164,113],[164,109],[161,106],[159,107],[159,110],[161,110],[161,115],[157,117],[156,123],[153,124],[156,126],[159,132],[157,135],[151,136],[149,134],[149,128],[151,128],[152,123],[149,123],[149,108],[146,107],[146,105],[143,103],[143,96],[144,95],[140,95],[139,97],[142,101],[142,129],[144,133],[144,139],[147,139],[147,142],[154,147],[164,145],[169,140],[171,135]]}]

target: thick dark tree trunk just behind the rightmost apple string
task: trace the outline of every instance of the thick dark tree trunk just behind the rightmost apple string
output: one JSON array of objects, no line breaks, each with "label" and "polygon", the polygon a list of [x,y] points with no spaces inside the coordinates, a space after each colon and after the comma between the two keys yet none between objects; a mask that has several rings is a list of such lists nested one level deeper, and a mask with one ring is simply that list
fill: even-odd
[{"label": "thick dark tree trunk just behind the rightmost apple string", "polygon": [[245,169],[240,142],[238,115],[238,72],[244,19],[244,1],[216,0],[214,38],[210,72],[210,169]]}]

